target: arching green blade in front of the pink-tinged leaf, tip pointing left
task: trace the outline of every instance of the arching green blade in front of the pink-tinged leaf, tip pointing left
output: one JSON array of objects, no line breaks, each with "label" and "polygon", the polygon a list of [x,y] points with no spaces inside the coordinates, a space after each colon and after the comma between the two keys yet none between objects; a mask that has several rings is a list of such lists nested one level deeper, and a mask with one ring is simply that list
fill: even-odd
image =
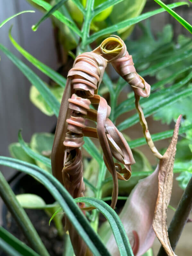
[{"label": "arching green blade in front of the pink-tinged leaf, tip pointing left", "polygon": [[75,202],[84,202],[96,207],[109,221],[116,243],[119,248],[120,255],[132,255],[133,252],[125,232],[125,229],[117,215],[117,213],[105,202],[97,198],[81,197],[74,199]]}]

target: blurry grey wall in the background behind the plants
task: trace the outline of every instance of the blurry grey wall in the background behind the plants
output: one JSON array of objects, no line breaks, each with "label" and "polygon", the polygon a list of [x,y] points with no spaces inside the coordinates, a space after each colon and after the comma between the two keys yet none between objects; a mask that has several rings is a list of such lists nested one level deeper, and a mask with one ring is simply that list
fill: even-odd
[{"label": "blurry grey wall in the background behind the plants", "polygon": [[[163,1],[166,4],[173,0]],[[177,1],[174,1],[177,2]],[[148,0],[144,12],[159,8],[153,0]],[[7,17],[23,10],[34,9],[25,0],[0,1],[0,23]],[[192,23],[191,8],[187,5],[176,8],[183,18]],[[48,78],[26,61],[12,46],[8,38],[8,30],[13,24],[12,34],[14,39],[34,57],[43,63],[57,69],[56,52],[53,39],[53,31],[50,20],[43,22],[36,32],[31,30],[42,13],[24,13],[9,21],[0,29],[0,43],[6,46],[17,57],[29,65],[44,81]],[[151,18],[154,33],[161,31],[167,23],[174,26],[174,36],[179,33],[190,35],[169,13],[164,12]],[[133,37],[137,37],[139,30],[135,28]],[[17,133],[22,128],[25,141],[30,141],[34,132],[50,132],[56,124],[55,117],[48,117],[40,112],[29,100],[30,82],[18,70],[18,68],[0,52],[0,155],[9,156],[8,145],[17,141]],[[13,174],[13,170],[0,167],[6,177]]]}]

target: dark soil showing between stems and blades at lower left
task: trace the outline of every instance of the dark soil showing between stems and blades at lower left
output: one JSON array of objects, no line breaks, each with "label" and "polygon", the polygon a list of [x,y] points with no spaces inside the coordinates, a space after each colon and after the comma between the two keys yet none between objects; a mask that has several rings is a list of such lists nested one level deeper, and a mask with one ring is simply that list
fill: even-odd
[{"label": "dark soil showing between stems and blades at lower left", "polygon": [[[42,184],[34,180],[31,176],[25,175],[22,178],[18,177],[17,181],[14,181],[12,189],[15,194],[21,193],[33,193],[41,196],[47,204],[53,203],[54,199],[44,188]],[[57,229],[54,226],[52,221],[49,226],[50,217],[44,212],[44,210],[34,210],[34,209],[25,209],[27,215],[29,216],[32,224],[34,225],[37,233],[39,234],[42,242],[47,248],[51,256],[60,256],[63,251],[63,239],[58,236]],[[7,211],[6,206],[3,209],[3,218],[4,218],[4,228],[6,228],[11,234],[17,237],[22,242],[28,242],[25,239],[21,229],[11,216],[11,213]],[[4,252],[0,252],[0,256],[7,255]],[[26,255],[27,256],[27,255]]]}]

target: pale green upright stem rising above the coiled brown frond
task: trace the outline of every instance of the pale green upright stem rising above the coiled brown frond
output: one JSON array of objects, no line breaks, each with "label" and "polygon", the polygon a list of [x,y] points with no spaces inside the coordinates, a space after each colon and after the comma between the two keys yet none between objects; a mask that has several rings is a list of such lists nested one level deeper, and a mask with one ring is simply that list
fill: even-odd
[{"label": "pale green upright stem rising above the coiled brown frond", "polygon": [[84,23],[82,27],[82,42],[81,42],[81,51],[85,51],[85,47],[87,45],[87,38],[89,37],[89,28],[90,28],[90,23],[92,21],[92,11],[93,11],[93,5],[94,5],[94,0],[87,0],[87,6],[86,6],[86,13],[84,16]]}]

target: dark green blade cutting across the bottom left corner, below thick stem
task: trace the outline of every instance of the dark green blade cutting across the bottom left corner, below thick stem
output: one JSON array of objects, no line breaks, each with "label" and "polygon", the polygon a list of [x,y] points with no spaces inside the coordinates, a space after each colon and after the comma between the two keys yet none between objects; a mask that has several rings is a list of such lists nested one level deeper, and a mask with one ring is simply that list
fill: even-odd
[{"label": "dark green blade cutting across the bottom left corner, below thick stem", "polygon": [[[28,256],[38,256],[36,252],[34,252],[29,246],[27,246],[25,243],[21,242],[19,239],[17,239],[14,235],[9,233],[6,229],[0,226],[0,239],[4,240],[7,245],[14,248],[15,251],[19,252],[20,255],[28,255]],[[1,247],[1,246],[0,246]],[[9,253],[9,249],[5,250],[5,252]],[[17,255],[17,254],[12,254]]]}]

